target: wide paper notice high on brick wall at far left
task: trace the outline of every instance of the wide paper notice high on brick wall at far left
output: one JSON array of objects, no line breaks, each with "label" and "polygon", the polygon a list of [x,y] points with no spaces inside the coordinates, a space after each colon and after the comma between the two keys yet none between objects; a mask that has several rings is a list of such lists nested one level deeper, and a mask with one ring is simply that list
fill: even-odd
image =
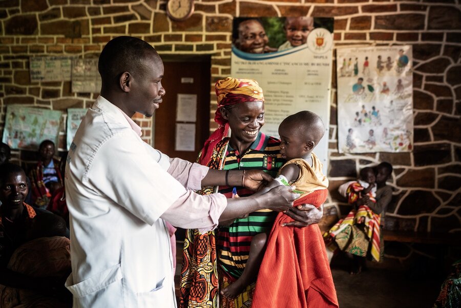
[{"label": "wide paper notice high on brick wall at far left", "polygon": [[74,57],[31,57],[31,81],[69,81]]}]

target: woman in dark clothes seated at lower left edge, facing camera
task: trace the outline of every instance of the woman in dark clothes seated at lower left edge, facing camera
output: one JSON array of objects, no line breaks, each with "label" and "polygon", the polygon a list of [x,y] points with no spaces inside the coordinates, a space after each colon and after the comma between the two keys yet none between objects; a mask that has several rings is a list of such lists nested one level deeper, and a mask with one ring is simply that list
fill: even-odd
[{"label": "woman in dark clothes seated at lower left edge, facing camera", "polygon": [[[33,258],[25,258],[16,250],[28,240],[29,229],[37,213],[24,202],[28,194],[26,174],[19,166],[12,163],[4,163],[0,166],[0,306],[14,307],[17,302],[16,293],[13,289],[27,289],[35,294],[50,295],[66,294],[64,280],[48,277],[49,271],[44,276],[29,275],[28,273],[16,271],[14,264],[25,264],[27,260],[36,263],[37,266],[44,260],[43,253]],[[40,214],[44,215],[44,214]],[[64,228],[65,230],[65,228]],[[40,249],[45,249],[41,247]],[[21,265],[22,266],[22,265]],[[62,293],[61,293],[62,292]],[[35,302],[36,304],[36,302]],[[34,307],[34,305],[29,305]],[[36,306],[36,305],[35,305]],[[22,306],[28,307],[28,305]]]}]

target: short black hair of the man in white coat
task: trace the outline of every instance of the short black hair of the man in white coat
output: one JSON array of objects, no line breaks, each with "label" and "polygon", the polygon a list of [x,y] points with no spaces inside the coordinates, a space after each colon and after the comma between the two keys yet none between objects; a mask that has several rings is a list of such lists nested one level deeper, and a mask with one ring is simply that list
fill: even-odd
[{"label": "short black hair of the man in white coat", "polygon": [[157,54],[154,47],[137,37],[119,36],[110,40],[98,60],[102,85],[116,82],[123,72],[142,75],[145,55],[149,52]]}]

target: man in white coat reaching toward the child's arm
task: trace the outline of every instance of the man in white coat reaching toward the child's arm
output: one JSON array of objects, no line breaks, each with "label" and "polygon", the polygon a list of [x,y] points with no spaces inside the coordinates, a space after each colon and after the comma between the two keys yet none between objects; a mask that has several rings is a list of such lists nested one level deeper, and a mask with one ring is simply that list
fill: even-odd
[{"label": "man in white coat reaching toward the child's arm", "polygon": [[285,211],[298,194],[290,187],[247,198],[198,195],[210,185],[257,190],[271,180],[260,171],[220,171],[170,158],[140,138],[131,119],[152,116],[165,89],[163,63],[141,39],[121,36],[102,50],[101,95],[78,128],[67,159],[74,307],[175,307],[168,223],[216,228],[260,209]]}]

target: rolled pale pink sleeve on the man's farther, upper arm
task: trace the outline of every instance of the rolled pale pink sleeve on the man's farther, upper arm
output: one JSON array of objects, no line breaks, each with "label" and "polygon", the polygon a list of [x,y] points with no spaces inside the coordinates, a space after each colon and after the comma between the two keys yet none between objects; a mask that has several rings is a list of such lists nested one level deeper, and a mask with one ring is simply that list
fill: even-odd
[{"label": "rolled pale pink sleeve on the man's farther, upper arm", "polygon": [[181,158],[170,158],[170,173],[186,189],[199,190],[202,188],[202,179],[208,173],[209,168],[192,163]]}]

